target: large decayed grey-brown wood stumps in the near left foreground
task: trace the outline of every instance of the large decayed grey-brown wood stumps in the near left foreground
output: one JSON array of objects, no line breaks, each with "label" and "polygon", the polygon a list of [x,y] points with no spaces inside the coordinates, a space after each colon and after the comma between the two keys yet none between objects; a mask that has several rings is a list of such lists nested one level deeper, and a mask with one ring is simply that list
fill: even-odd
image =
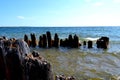
[{"label": "large decayed grey-brown wood stumps in the near left foreground", "polygon": [[0,80],[53,80],[51,65],[23,40],[0,38]]}]

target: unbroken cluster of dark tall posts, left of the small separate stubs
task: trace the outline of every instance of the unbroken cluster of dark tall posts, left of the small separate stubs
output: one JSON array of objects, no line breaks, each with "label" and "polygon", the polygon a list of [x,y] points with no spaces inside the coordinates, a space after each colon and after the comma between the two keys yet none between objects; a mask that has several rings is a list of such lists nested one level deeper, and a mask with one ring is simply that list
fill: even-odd
[{"label": "unbroken cluster of dark tall posts, left of the small separate stubs", "polygon": [[47,31],[46,34],[40,35],[38,43],[37,43],[37,39],[36,39],[35,34],[30,34],[30,36],[31,36],[31,40],[29,40],[28,36],[25,34],[24,35],[24,40],[31,47],[36,47],[37,44],[38,44],[39,47],[42,47],[42,48],[46,48],[46,47],[48,47],[48,48],[51,48],[51,47],[58,48],[59,46],[78,48],[80,46],[79,38],[78,38],[77,35],[74,35],[74,37],[72,37],[72,35],[69,35],[68,38],[63,40],[63,39],[59,38],[57,33],[55,33],[54,40],[52,40],[51,33],[49,31]]}]

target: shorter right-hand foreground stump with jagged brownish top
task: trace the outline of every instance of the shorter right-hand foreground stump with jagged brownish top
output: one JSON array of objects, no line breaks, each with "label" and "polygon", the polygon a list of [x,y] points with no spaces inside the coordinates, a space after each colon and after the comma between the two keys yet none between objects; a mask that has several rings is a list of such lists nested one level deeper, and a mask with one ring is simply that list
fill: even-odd
[{"label": "shorter right-hand foreground stump with jagged brownish top", "polygon": [[50,63],[42,59],[38,52],[26,56],[26,63],[29,80],[53,80]]}]

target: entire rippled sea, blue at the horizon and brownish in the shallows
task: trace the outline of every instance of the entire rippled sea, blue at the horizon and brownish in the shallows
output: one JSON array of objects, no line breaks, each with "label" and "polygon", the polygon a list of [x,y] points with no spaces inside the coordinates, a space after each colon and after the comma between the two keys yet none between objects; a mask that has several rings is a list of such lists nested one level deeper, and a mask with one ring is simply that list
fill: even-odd
[{"label": "entire rippled sea, blue at the horizon and brownish in the shallows", "polygon": [[0,36],[23,38],[27,34],[30,39],[30,33],[35,33],[38,39],[46,31],[51,32],[52,38],[58,33],[62,39],[77,34],[81,42],[101,36],[110,38],[107,50],[97,49],[95,43],[93,49],[36,48],[51,62],[54,75],[73,75],[76,80],[120,79],[120,27],[0,27]]}]

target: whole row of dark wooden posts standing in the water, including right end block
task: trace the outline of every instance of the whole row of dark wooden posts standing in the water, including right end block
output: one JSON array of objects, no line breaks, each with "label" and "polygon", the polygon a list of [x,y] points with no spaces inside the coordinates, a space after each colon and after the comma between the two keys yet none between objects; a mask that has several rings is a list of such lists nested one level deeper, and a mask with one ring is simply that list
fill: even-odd
[{"label": "whole row of dark wooden posts standing in the water, including right end block", "polygon": [[[58,34],[55,33],[54,40],[51,37],[50,31],[47,31],[46,34],[40,35],[39,41],[37,42],[35,34],[30,34],[31,40],[29,40],[28,36],[24,35],[24,41],[31,47],[39,46],[40,48],[51,48],[59,46],[61,47],[69,47],[69,48],[78,48],[79,46],[83,45],[84,47],[92,48],[93,41],[83,41],[83,44],[79,42],[79,37],[75,34],[74,36],[69,35],[68,38],[60,39]],[[108,37],[101,37],[96,41],[97,48],[107,49],[109,44]]]}]

